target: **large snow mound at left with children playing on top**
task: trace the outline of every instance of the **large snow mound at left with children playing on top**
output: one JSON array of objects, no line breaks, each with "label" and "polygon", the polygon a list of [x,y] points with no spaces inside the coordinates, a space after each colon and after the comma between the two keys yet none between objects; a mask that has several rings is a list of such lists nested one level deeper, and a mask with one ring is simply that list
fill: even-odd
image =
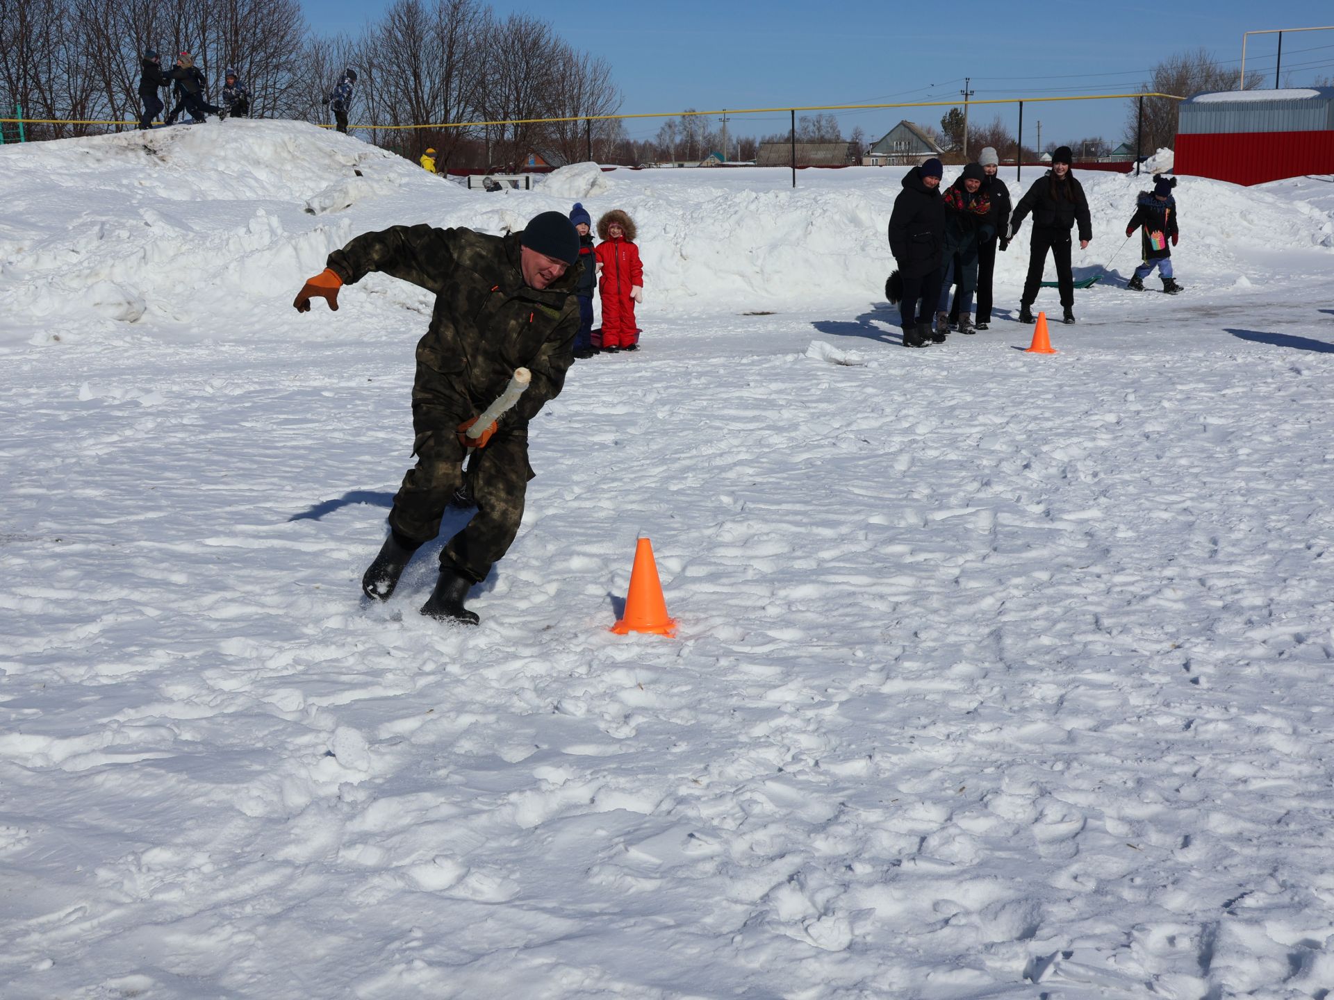
[{"label": "large snow mound at left with children playing on top", "polygon": [[68,343],[144,316],[208,324],[224,300],[291,299],[355,235],[339,213],[459,196],[423,173],[291,121],[0,147],[0,311],[25,339]]}]

